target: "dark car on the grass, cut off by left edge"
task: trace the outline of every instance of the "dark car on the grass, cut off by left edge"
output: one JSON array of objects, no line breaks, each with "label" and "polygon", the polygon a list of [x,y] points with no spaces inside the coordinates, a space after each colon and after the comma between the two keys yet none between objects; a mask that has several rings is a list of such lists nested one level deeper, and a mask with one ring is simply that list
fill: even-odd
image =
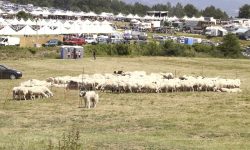
[{"label": "dark car on the grass, cut off by left edge", "polygon": [[0,65],[0,79],[18,79],[22,77],[22,72]]}]

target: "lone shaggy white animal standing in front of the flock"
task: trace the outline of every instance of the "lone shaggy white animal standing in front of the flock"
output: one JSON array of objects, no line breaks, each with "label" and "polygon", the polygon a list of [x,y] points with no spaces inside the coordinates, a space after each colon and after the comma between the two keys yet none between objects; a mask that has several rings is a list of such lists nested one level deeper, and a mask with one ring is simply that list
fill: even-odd
[{"label": "lone shaggy white animal standing in front of the flock", "polygon": [[99,101],[99,95],[95,91],[80,91],[80,97],[84,99],[85,108],[95,108]]}]

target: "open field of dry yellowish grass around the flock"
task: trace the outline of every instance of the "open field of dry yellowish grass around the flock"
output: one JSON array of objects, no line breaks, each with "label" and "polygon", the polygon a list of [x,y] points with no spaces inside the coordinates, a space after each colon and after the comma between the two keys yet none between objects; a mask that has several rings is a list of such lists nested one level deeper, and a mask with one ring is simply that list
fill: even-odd
[{"label": "open field of dry yellowish grass around the flock", "polygon": [[[0,81],[0,149],[58,149],[63,134],[79,131],[80,149],[249,149],[250,61],[175,57],[98,57],[83,60],[3,60],[23,71]],[[13,101],[11,89],[29,79],[114,70],[240,78],[242,93],[99,93],[96,109],[78,108],[78,91]],[[54,146],[54,147],[53,147]]]}]

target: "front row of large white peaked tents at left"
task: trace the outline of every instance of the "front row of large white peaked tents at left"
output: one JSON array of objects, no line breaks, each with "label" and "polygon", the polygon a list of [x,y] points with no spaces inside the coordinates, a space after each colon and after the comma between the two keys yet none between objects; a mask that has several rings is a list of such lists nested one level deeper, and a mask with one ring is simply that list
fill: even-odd
[{"label": "front row of large white peaked tents at left", "polygon": [[115,33],[108,21],[90,20],[0,20],[0,35],[50,35],[76,33]]}]

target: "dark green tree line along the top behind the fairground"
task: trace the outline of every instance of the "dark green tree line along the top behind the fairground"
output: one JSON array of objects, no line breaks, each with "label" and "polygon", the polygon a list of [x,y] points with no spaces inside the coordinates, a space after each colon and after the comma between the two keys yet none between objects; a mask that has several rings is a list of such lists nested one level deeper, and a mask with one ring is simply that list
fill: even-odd
[{"label": "dark green tree line along the top behind the fairground", "polygon": [[[208,6],[204,10],[197,9],[192,4],[182,5],[177,3],[172,5],[170,2],[166,4],[156,4],[152,7],[143,5],[141,3],[127,4],[121,0],[10,0],[18,4],[33,4],[41,7],[54,7],[63,10],[72,11],[94,11],[97,14],[101,12],[111,12],[114,14],[138,14],[144,16],[146,11],[162,10],[168,11],[169,16],[177,17],[214,17],[215,19],[228,19],[228,14],[214,6]],[[250,5],[246,4],[239,9],[240,18],[250,18]]]}]

